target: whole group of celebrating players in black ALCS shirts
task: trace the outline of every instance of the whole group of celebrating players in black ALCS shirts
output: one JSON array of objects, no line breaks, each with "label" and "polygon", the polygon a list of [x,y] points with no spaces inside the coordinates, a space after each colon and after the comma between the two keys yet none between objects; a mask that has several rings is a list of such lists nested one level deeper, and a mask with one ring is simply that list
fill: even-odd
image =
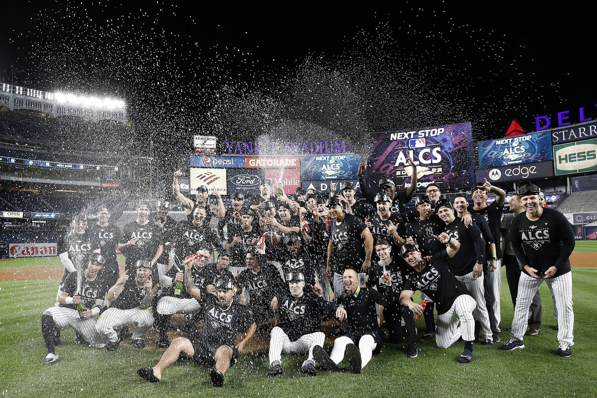
[{"label": "whole group of celebrating players in black ALCS shirts", "polygon": [[[381,314],[387,341],[406,342],[407,357],[417,357],[415,317],[424,317],[422,337],[435,337],[440,348],[462,340],[457,362],[469,363],[473,342],[500,341],[502,265],[514,319],[501,349],[524,348],[523,336],[537,335],[544,280],[558,319],[557,354],[570,356],[574,234],[565,217],[544,207],[537,186],[521,184],[502,220],[506,194],[487,180],[472,187],[472,207],[466,195],[448,201],[430,183],[407,210],[416,175],[402,195],[391,179],[380,180],[378,192],[364,192],[370,212],[350,182],[333,184],[329,195],[298,188],[288,197],[275,195],[267,179],[260,195],[235,193],[226,208],[217,191],[202,186],[195,200],[181,194],[179,170],[173,194],[186,221],[168,216],[167,202],[153,209],[157,217],[140,203],[137,219],[122,231],[110,224],[109,207],[99,209],[95,225],[73,219],[59,246],[64,276],[57,302],[42,314],[44,363],[58,359],[64,327],[76,330],[76,342],[108,351],[129,337],[144,348],[153,327],[156,345],[166,350],[155,366],[137,372],[152,382],[181,360],[206,366],[221,386],[256,331],[270,335],[270,376],[284,372],[282,353],[305,355],[306,375],[316,375],[316,365],[336,371],[344,357],[350,371],[361,373],[383,344]],[[496,195],[491,204],[488,192]],[[122,274],[116,249],[126,259]],[[421,304],[413,301],[416,290]],[[170,341],[174,314],[184,314],[187,338]],[[337,323],[329,353],[322,319]]]}]

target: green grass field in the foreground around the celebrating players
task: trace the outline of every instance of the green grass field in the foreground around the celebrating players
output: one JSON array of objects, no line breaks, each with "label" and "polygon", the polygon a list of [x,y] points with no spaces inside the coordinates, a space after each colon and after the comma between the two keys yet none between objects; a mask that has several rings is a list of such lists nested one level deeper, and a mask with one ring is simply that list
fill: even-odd
[{"label": "green grass field in the foreground around the celebrating players", "polygon": [[[512,304],[503,278],[502,322],[512,322]],[[115,353],[73,342],[73,329],[62,333],[60,360],[44,365],[46,349],[40,330],[41,313],[54,304],[57,281],[0,282],[0,390],[2,397],[593,397],[597,391],[597,268],[574,268],[575,342],[573,356],[555,356],[558,348],[553,302],[545,284],[543,325],[527,337],[524,350],[506,352],[475,344],[473,362],[456,363],[463,345],[442,350],[435,342],[418,342],[419,356],[407,359],[404,346],[384,345],[362,375],[320,372],[307,378],[298,371],[303,357],[284,356],[281,378],[270,379],[265,348],[241,354],[228,373],[224,388],[211,387],[204,368],[175,364],[164,381],[150,384],[136,370],[154,365],[161,351],[136,350],[122,344]],[[423,320],[418,320],[423,330]],[[421,333],[419,333],[420,335]],[[508,338],[501,333],[502,341]]]}]

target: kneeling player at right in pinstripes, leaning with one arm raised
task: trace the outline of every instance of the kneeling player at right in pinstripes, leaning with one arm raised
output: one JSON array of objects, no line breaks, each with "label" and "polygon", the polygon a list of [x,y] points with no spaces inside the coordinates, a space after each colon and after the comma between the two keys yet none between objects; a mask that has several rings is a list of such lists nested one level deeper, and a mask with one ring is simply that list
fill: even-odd
[{"label": "kneeling player at right in pinstripes, leaning with one arm raised", "polygon": [[439,348],[448,348],[462,337],[464,351],[458,357],[458,363],[469,363],[473,359],[473,310],[477,303],[448,267],[448,260],[455,258],[454,255],[460,250],[461,244],[445,232],[436,238],[447,244],[447,247],[436,253],[431,261],[424,259],[414,244],[404,245],[402,255],[415,272],[405,281],[400,302],[413,313],[420,315],[423,308],[413,302],[414,292],[420,290],[432,298],[438,310],[436,344]]}]

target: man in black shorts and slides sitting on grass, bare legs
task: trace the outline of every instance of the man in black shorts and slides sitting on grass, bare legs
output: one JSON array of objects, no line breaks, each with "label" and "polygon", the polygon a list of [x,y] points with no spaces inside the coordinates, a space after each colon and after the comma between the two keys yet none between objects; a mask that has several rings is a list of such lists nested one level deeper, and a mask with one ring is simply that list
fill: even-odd
[{"label": "man in black shorts and slides sitting on grass, bare legs", "polygon": [[[253,337],[257,328],[253,317],[244,305],[234,302],[234,281],[227,277],[216,281],[216,295],[201,293],[190,276],[190,264],[184,267],[184,287],[197,301],[205,303],[203,330],[197,340],[178,337],[172,341],[158,364],[153,368],[137,371],[141,378],[158,382],[162,372],[179,359],[179,356],[190,358],[198,365],[210,369],[211,383],[214,387],[222,387],[224,375],[238,359],[239,351]],[[234,345],[236,333],[245,330],[244,339]]]}]

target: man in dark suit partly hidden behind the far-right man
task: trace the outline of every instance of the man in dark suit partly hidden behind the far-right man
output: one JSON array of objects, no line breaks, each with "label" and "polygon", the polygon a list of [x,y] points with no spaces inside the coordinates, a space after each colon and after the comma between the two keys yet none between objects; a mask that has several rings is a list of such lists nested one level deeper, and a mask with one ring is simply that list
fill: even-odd
[{"label": "man in dark suit partly hidden behind the far-right man", "polygon": [[[516,261],[516,256],[512,250],[512,244],[509,240],[510,224],[512,219],[520,213],[524,213],[525,209],[522,207],[521,198],[517,194],[512,195],[510,200],[510,214],[504,216],[501,220],[501,249],[504,253],[503,264],[506,267],[506,280],[510,288],[510,296],[512,296],[512,304],[516,307],[516,295],[518,295],[518,279],[521,276],[521,269]],[[536,336],[539,334],[539,327],[541,326],[541,296],[539,290],[533,297],[531,308],[528,314],[527,336]],[[507,329],[506,329],[507,330]]]}]

